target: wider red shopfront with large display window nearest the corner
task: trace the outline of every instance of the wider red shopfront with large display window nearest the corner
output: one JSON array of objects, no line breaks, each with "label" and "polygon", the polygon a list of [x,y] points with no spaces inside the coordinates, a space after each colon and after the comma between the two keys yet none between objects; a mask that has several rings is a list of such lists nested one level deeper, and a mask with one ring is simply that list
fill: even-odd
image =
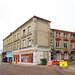
[{"label": "wider red shopfront with large display window nearest the corner", "polygon": [[21,51],[21,62],[33,63],[33,51],[34,50]]}]

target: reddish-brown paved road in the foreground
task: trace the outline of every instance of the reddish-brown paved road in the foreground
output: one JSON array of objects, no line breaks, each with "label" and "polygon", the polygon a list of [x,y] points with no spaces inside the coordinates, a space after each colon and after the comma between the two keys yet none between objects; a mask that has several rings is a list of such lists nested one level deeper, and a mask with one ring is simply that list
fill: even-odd
[{"label": "reddish-brown paved road in the foreground", "polygon": [[0,75],[75,75],[75,73],[55,66],[18,66],[0,63]]}]

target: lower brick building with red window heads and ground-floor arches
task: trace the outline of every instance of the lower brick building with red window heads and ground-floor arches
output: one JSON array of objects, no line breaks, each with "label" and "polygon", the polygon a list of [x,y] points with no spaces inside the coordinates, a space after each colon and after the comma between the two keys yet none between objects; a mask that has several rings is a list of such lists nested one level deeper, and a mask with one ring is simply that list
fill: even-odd
[{"label": "lower brick building with red window heads and ground-floor arches", "polygon": [[75,33],[50,29],[51,54],[54,59],[75,59]]}]

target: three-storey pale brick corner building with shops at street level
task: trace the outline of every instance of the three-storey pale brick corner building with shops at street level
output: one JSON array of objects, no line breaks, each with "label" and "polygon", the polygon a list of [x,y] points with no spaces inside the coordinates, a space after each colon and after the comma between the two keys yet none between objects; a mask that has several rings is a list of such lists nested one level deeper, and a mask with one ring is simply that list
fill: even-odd
[{"label": "three-storey pale brick corner building with shops at street level", "polygon": [[6,62],[40,64],[47,58],[50,46],[51,21],[33,16],[3,39]]}]

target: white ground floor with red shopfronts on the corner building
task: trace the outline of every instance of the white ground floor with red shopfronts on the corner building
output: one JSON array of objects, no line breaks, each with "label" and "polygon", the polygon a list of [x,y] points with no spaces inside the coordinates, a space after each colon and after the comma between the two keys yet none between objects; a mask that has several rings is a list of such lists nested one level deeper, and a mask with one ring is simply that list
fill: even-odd
[{"label": "white ground floor with red shopfronts on the corner building", "polygon": [[40,64],[40,59],[47,58],[48,59],[48,49],[23,49],[13,51],[13,63],[18,64]]}]

